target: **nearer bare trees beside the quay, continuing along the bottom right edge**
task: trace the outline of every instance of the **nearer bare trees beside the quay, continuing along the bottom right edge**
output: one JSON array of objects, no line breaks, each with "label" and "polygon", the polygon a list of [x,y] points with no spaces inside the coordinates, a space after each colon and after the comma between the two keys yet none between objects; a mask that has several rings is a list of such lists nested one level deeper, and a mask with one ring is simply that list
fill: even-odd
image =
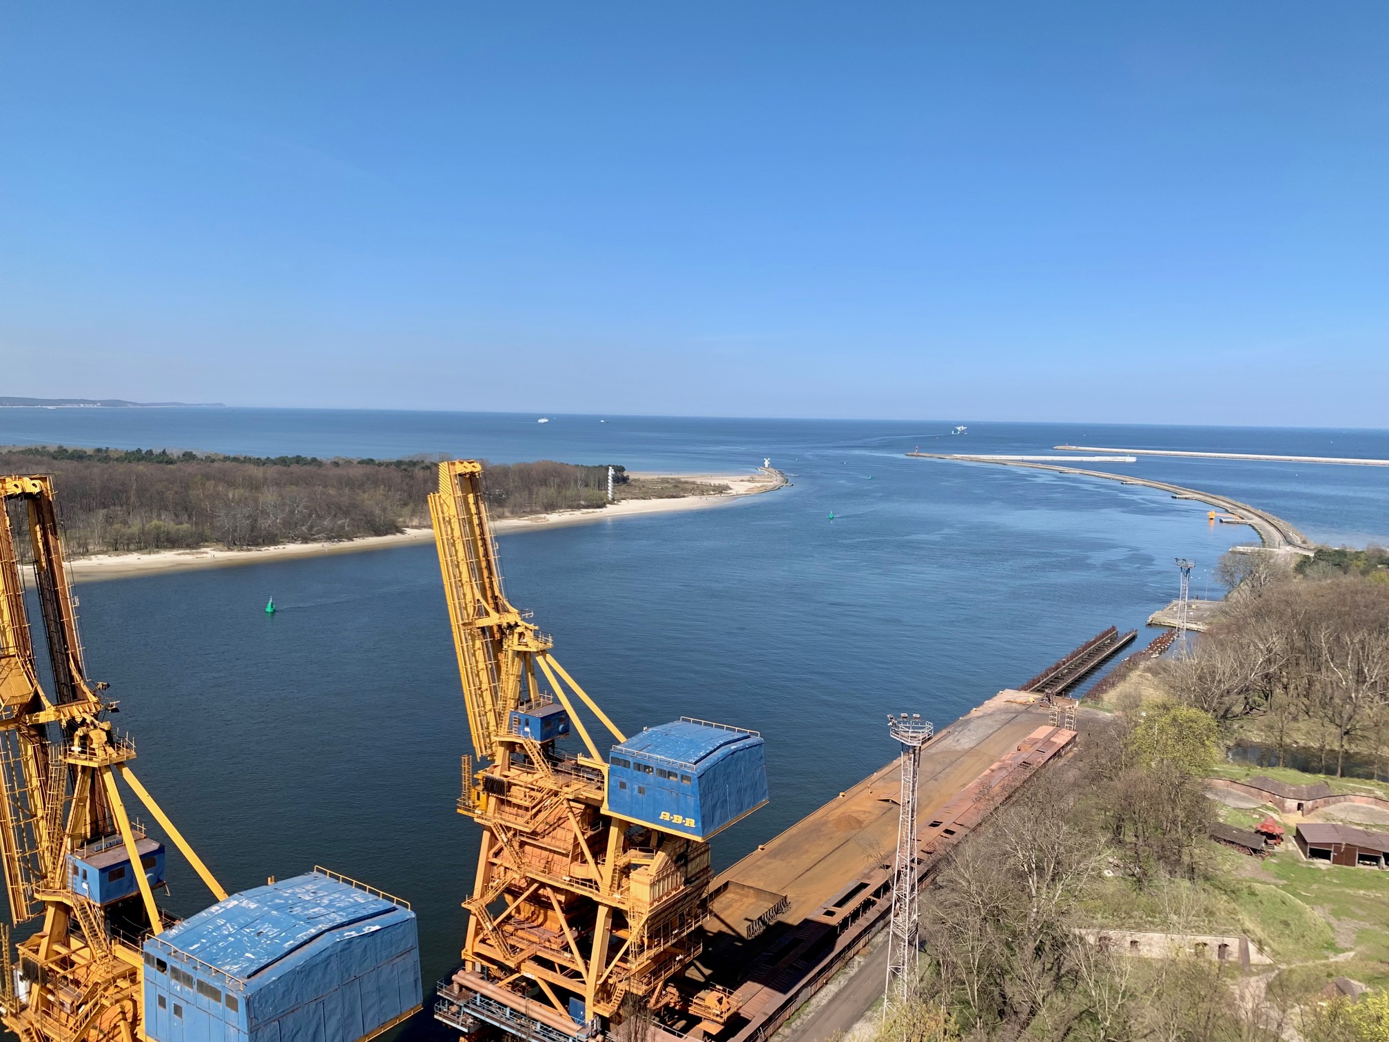
[{"label": "nearer bare trees beside the quay, continuing along the bottom right edge", "polygon": [[1206,838],[1201,774],[1215,734],[1208,716],[1174,704],[1083,721],[1078,752],[990,817],[922,891],[921,974],[878,1041],[1385,1038],[1382,993],[1317,1002],[1296,978],[1250,989],[1231,961],[1135,959],[1104,943],[1107,929],[1210,928],[1201,888],[1224,870]]}]

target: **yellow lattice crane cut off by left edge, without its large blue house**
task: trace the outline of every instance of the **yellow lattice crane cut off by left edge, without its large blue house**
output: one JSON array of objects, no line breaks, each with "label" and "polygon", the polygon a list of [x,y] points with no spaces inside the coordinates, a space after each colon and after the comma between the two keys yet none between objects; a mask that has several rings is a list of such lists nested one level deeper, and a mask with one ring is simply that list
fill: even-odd
[{"label": "yellow lattice crane cut off by left edge, without its large blue house", "polygon": [[[132,821],[118,778],[213,895],[226,892],[136,779],[115,703],[88,679],[51,479],[0,477],[0,861],[11,923],[39,921],[14,949],[0,927],[0,1020],[24,1042],[143,1039],[139,942],[167,921],[164,846]],[[11,518],[28,528],[47,688]]]}]

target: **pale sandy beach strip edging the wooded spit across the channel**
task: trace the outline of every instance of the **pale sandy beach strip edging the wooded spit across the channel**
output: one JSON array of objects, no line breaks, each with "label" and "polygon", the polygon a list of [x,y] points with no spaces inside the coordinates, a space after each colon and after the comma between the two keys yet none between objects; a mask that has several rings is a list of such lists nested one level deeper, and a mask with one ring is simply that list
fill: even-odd
[{"label": "pale sandy beach strip edging the wooded spit across the channel", "polygon": [[[682,496],[678,499],[628,499],[600,510],[561,510],[553,514],[532,517],[508,517],[493,521],[496,532],[518,532],[557,525],[583,525],[594,521],[610,521],[621,517],[642,517],[667,514],[678,510],[704,510],[725,506],[743,496],[774,492],[786,485],[786,477],[776,470],[758,470],[754,474],[654,474],[633,471],[636,478],[683,478],[708,485],[728,485],[728,492],[713,492],[707,496]],[[150,553],[106,553],[92,557],[78,557],[68,561],[68,574],[74,582],[94,582],[99,579],[119,579],[131,575],[154,575],[158,572],[183,571],[188,568],[219,568],[236,564],[263,564],[271,560],[290,557],[318,557],[329,553],[361,553],[363,550],[385,550],[392,546],[424,543],[433,540],[433,529],[407,528],[396,535],[365,536],[332,543],[281,543],[279,546],[258,546],[250,550],[224,550],[200,547],[197,550],[154,550]]]}]

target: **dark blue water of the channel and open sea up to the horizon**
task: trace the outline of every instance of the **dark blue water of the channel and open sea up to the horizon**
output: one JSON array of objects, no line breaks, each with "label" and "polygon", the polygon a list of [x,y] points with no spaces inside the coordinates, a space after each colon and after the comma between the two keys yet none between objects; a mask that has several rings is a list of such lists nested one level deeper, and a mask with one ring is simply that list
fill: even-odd
[{"label": "dark blue water of the channel and open sea up to the horizon", "polygon": [[[1389,458],[1389,431],[253,408],[0,408],[0,445],[193,449],[635,471],[790,485],[714,510],[500,538],[513,603],[625,731],[754,728],[771,802],[718,867],[893,756],[889,713],[945,727],[1110,625],[1145,620],[1245,527],[1204,504],[906,453],[1061,443]],[[964,424],[963,433],[951,433]],[[1260,506],[1320,542],[1389,542],[1389,468],[1139,457],[1086,463]],[[60,489],[61,504],[61,489]],[[325,866],[410,900],[426,989],[458,960],[478,853],[456,811],[471,752],[433,546],[85,582],[82,638],[136,770],[229,891]],[[279,611],[267,615],[265,600]],[[171,859],[171,907],[210,902]],[[411,1038],[432,1038],[425,1020]],[[440,1035],[446,1036],[446,1035]]]}]

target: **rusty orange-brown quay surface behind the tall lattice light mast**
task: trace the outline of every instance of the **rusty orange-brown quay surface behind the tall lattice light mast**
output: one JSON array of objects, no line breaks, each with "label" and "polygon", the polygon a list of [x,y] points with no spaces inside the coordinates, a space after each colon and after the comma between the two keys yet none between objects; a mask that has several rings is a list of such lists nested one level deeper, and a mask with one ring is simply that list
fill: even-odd
[{"label": "rusty orange-brown quay surface behind the tall lattice light mast", "polygon": [[[922,877],[1074,739],[1018,690],[940,731],[921,757]],[[897,770],[893,760],[714,879],[689,984],[736,993],[739,1017],[720,1039],[770,1038],[886,923]]]}]

